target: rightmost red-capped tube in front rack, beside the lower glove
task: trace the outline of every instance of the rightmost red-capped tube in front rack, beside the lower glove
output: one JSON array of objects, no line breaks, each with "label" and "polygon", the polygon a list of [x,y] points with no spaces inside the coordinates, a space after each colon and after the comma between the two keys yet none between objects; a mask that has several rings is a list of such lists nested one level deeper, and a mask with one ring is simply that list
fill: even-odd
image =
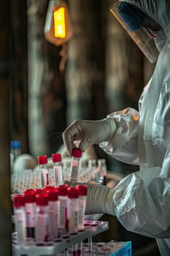
[{"label": "rightmost red-capped tube in front rack, beside the lower glove", "polygon": [[82,230],[84,228],[84,218],[85,218],[85,205],[86,205],[86,197],[88,192],[88,186],[86,185],[77,185],[78,193],[79,193],[79,221],[78,221],[78,229]]}]

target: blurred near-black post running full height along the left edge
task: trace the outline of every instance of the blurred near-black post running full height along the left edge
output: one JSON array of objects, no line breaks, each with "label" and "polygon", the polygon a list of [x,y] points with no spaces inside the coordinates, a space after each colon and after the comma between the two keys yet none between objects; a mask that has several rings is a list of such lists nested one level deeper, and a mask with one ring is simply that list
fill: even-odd
[{"label": "blurred near-black post running full height along the left edge", "polygon": [[9,167],[9,1],[0,1],[0,255],[11,252],[11,200]]}]

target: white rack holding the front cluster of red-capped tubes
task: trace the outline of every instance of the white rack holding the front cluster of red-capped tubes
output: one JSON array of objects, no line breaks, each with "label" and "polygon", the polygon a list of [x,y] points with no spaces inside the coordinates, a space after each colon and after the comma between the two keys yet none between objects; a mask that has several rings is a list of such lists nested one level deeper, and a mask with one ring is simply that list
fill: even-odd
[{"label": "white rack holding the front cluster of red-capped tubes", "polygon": [[65,233],[60,238],[53,241],[36,243],[27,241],[25,244],[18,244],[17,233],[12,233],[12,255],[13,256],[42,256],[56,255],[63,252],[65,249],[85,241],[90,236],[96,236],[99,233],[109,229],[108,222],[85,220],[84,230],[79,230],[77,233]]}]

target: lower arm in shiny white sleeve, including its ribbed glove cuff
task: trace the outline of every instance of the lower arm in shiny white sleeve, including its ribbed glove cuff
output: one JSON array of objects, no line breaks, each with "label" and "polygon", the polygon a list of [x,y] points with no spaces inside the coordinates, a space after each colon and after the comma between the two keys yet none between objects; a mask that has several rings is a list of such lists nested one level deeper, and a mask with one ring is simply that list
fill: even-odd
[{"label": "lower arm in shiny white sleeve, including its ribbed glove cuff", "polygon": [[113,189],[91,187],[86,214],[99,211],[115,215],[126,230],[152,238],[169,238],[169,177],[170,146],[162,167],[132,173]]}]

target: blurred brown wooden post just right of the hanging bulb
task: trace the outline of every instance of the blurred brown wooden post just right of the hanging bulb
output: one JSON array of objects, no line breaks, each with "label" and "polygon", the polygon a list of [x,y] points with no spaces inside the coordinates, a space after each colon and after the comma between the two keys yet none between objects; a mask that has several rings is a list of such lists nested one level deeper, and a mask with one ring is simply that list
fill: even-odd
[{"label": "blurred brown wooden post just right of the hanging bulb", "polygon": [[73,37],[66,69],[67,123],[103,118],[105,48],[101,1],[69,0]]}]

